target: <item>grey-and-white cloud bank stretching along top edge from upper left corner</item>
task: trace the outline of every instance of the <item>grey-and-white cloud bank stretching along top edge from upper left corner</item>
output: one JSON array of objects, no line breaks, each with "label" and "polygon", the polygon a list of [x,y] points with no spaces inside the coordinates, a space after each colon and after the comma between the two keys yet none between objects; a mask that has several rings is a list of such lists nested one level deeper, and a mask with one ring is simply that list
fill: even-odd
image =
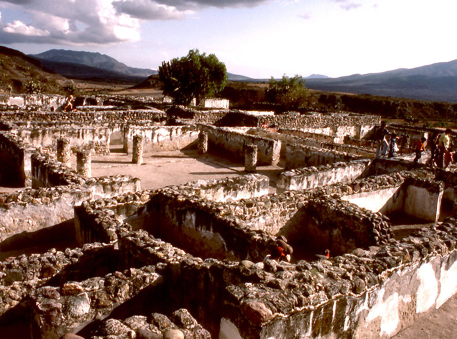
[{"label": "grey-and-white cloud bank stretching along top edge from upper left corner", "polygon": [[207,7],[253,7],[270,1],[272,0],[0,0],[4,7],[26,14],[29,18],[26,22],[21,19],[0,23],[0,44],[135,42],[140,39],[140,20],[183,19],[186,15]]}]

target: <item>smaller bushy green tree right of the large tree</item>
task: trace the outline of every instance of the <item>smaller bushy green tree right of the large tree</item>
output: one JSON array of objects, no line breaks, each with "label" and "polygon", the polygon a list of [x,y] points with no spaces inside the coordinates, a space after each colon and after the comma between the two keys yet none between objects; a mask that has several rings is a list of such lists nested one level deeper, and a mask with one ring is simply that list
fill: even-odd
[{"label": "smaller bushy green tree right of the large tree", "polygon": [[306,106],[309,94],[305,79],[299,75],[292,78],[284,75],[281,80],[271,77],[265,96],[269,103],[282,105],[286,109],[299,109]]}]

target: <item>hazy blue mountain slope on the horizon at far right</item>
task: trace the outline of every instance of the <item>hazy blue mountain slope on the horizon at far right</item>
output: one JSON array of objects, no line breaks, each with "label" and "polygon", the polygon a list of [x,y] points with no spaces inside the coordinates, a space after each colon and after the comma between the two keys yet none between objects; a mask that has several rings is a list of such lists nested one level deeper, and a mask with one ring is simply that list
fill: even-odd
[{"label": "hazy blue mountain slope on the horizon at far right", "polygon": [[414,69],[309,79],[311,89],[457,103],[457,60]]}]

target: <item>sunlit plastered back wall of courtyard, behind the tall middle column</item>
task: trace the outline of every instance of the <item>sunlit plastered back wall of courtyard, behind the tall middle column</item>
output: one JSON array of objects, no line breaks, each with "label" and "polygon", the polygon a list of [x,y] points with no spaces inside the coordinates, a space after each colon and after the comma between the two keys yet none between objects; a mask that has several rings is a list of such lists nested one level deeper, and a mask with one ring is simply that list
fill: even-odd
[{"label": "sunlit plastered back wall of courtyard, behind the tall middle column", "polygon": [[133,137],[143,137],[144,152],[180,150],[197,140],[199,128],[195,126],[126,126],[123,132],[123,150],[132,153]]}]

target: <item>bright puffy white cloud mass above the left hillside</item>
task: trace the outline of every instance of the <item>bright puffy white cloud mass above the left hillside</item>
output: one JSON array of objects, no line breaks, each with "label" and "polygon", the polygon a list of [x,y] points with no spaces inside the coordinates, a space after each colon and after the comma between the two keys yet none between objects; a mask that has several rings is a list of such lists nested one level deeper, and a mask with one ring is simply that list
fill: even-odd
[{"label": "bright puffy white cloud mass above the left hillside", "polygon": [[112,5],[113,0],[7,2],[15,4],[9,7],[28,14],[30,19],[25,23],[22,22],[24,20],[15,20],[3,24],[0,43],[79,45],[110,44],[140,39],[139,20],[128,14],[118,13]]}]

